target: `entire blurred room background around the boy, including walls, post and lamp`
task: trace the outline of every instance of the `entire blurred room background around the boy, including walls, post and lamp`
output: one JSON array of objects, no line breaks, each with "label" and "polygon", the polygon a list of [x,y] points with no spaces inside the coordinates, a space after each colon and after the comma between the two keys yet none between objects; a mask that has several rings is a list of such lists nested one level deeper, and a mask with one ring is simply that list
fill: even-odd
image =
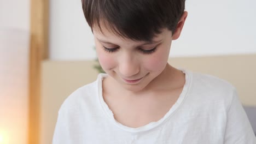
[{"label": "entire blurred room background around the boy, including walls, post and lamp", "polygon": [[[254,131],[255,5],[188,0],[169,59],[235,85]],[[96,79],[93,47],[80,0],[0,0],[0,144],[51,143],[63,100]]]}]

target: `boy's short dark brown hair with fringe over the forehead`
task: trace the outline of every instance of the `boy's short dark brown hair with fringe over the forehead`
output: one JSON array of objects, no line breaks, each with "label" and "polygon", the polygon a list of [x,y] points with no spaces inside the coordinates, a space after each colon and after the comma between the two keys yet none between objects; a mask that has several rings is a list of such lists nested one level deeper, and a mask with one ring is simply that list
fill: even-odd
[{"label": "boy's short dark brown hair with fringe over the forehead", "polygon": [[82,0],[88,25],[123,38],[150,41],[161,29],[174,32],[181,18],[185,0]]}]

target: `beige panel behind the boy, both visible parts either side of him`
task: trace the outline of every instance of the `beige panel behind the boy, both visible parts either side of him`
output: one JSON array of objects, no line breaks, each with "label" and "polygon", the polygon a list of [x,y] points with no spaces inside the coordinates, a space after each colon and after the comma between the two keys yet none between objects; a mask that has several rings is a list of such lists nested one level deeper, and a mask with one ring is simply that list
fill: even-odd
[{"label": "beige panel behind the boy, both visible parts either side of him", "polygon": [[[176,68],[211,74],[228,80],[237,87],[243,104],[256,106],[256,54],[218,57],[170,58]],[[42,104],[40,143],[51,143],[63,100],[80,86],[94,81],[95,62],[44,61],[42,68]]]}]

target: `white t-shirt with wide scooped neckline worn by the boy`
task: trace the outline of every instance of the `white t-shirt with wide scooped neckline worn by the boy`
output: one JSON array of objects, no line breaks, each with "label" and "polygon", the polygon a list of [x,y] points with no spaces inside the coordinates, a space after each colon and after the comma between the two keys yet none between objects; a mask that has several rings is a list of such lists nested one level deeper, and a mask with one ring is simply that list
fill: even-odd
[{"label": "white t-shirt with wide scooped neckline worn by the boy", "polygon": [[[157,122],[130,128],[115,121],[102,97],[102,79],[73,92],[59,110],[53,143],[255,144],[245,111],[230,83],[183,70],[185,85]],[[120,94],[121,97],[121,94]]]}]

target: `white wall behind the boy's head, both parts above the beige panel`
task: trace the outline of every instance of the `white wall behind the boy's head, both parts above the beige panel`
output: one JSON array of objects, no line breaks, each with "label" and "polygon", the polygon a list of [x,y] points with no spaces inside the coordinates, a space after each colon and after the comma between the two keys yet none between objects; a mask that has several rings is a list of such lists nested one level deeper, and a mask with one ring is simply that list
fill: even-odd
[{"label": "white wall behind the boy's head, both parts above the beige panel", "polygon": [[[94,40],[80,0],[55,0],[50,5],[50,59],[94,59]],[[188,19],[170,56],[255,53],[255,5],[254,0],[187,0]]]}]

